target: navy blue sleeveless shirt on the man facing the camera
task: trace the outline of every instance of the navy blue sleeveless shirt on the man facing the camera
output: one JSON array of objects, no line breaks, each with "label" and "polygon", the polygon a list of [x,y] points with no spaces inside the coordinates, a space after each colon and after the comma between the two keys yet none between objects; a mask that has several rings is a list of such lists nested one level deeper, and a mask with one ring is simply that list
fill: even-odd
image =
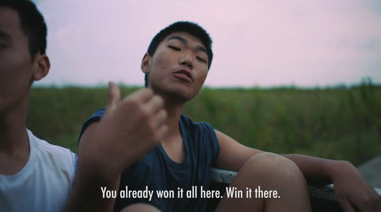
[{"label": "navy blue sleeveless shirt on the man facing the camera", "polygon": [[[104,112],[105,108],[99,109],[86,120],[79,138],[92,122],[101,119]],[[179,128],[186,150],[184,162],[176,163],[171,160],[163,146],[159,144],[157,148],[122,173],[114,211],[119,211],[133,203],[151,204],[162,212],[205,210],[208,199],[200,198],[200,189],[202,186],[203,190],[209,190],[211,165],[219,154],[216,133],[207,122],[194,123],[183,114],[179,121]],[[130,190],[145,191],[146,186],[149,191],[153,191],[151,200],[149,197],[120,197],[120,191],[125,191],[126,187],[128,193]],[[187,198],[187,191],[192,191],[192,186],[197,186],[197,198]],[[179,189],[183,190],[182,198],[178,196]],[[157,191],[173,191],[174,197],[160,198]]]}]

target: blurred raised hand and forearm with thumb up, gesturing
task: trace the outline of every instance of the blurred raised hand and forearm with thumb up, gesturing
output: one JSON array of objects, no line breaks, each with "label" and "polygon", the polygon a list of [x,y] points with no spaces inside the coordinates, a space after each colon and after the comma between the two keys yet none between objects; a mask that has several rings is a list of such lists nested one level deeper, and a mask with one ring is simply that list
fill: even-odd
[{"label": "blurred raised hand and forearm with thumb up, gesturing", "polygon": [[156,147],[164,138],[163,99],[141,89],[120,100],[110,83],[107,109],[99,122],[83,133],[78,146],[78,167],[66,212],[111,212],[115,199],[103,198],[101,187],[118,191],[120,174]]}]

